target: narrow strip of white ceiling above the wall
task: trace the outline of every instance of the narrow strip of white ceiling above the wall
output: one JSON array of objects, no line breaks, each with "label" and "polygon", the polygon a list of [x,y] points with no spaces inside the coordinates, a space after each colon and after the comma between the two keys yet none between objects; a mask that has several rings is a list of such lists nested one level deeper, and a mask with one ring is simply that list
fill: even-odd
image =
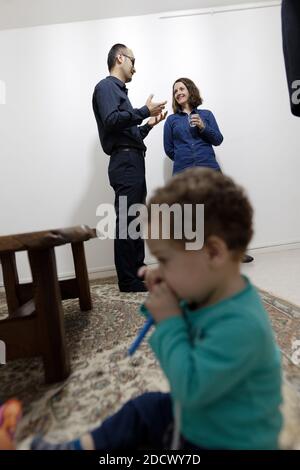
[{"label": "narrow strip of white ceiling above the wall", "polygon": [[0,30],[247,4],[249,1],[260,3],[260,0],[0,0]]}]

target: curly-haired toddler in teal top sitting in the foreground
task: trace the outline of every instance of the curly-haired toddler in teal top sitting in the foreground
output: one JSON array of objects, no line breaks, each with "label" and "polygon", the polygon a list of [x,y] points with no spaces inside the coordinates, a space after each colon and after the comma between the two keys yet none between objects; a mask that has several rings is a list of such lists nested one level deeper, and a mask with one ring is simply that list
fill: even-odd
[{"label": "curly-haired toddler in teal top sitting in the foreground", "polygon": [[175,216],[149,219],[149,228],[157,224],[159,236],[148,246],[159,265],[140,274],[155,321],[149,343],[170,393],[127,402],[78,440],[56,445],[36,438],[32,448],[277,449],[280,353],[259,295],[240,272],[252,236],[244,191],[221,173],[192,168],[158,189],[149,210],[153,204],[204,204],[202,249],[186,249],[190,240],[177,239]]}]

